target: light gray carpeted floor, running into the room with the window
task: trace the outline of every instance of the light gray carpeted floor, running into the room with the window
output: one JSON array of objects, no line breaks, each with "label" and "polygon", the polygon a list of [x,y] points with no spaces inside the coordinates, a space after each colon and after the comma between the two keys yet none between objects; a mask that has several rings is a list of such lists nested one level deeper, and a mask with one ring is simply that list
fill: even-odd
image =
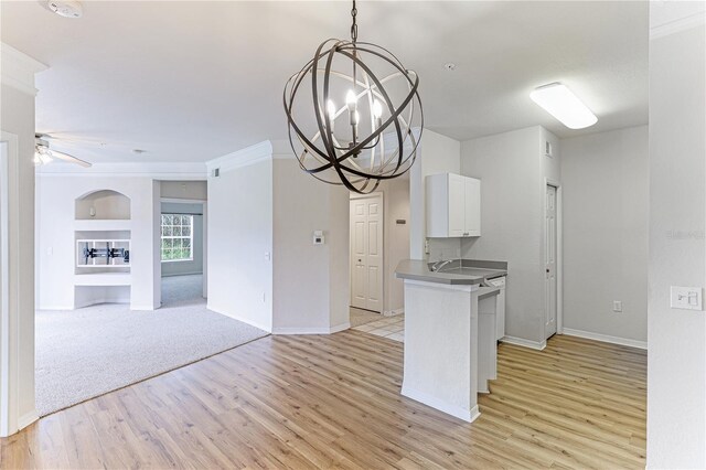
[{"label": "light gray carpeted floor, running into the room with the window", "polygon": [[201,276],[162,280],[163,306],[36,312],[40,416],[238,346],[268,333],[206,310]]}]

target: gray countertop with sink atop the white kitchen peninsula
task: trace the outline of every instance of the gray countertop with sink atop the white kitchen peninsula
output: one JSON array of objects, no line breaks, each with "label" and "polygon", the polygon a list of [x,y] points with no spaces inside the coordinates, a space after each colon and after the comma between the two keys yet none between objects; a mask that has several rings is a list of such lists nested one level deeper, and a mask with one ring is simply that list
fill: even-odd
[{"label": "gray countertop with sink atop the white kitchen peninsula", "polygon": [[[459,265],[459,263],[457,263]],[[475,267],[481,265],[483,267]],[[450,284],[450,285],[474,285],[481,284],[483,279],[505,276],[505,268],[500,268],[502,263],[498,263],[493,268],[485,267],[483,263],[473,263],[472,260],[463,260],[460,266],[451,266],[443,269],[442,273],[432,271],[426,261],[417,259],[405,259],[397,265],[395,276],[399,279],[422,280],[426,282]]]}]

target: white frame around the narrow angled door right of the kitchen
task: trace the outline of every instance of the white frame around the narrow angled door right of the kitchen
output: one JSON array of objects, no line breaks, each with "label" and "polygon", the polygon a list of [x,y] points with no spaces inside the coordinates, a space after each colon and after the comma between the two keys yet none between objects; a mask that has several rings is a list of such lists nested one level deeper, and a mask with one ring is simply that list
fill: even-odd
[{"label": "white frame around the narrow angled door right of the kitchen", "polygon": [[[561,190],[561,183],[550,178],[545,178],[544,185],[542,186],[542,193],[544,194],[544,196],[542,197],[542,201],[543,201],[543,204],[542,204],[542,232],[543,232],[542,273],[543,275],[542,277],[543,279],[545,278],[544,260],[546,259],[546,253],[544,253],[544,250],[546,249],[545,247],[547,246],[547,236],[548,236],[546,231],[546,224],[544,223],[544,221],[547,217],[547,204],[546,204],[547,186],[553,186],[556,189],[556,334],[564,334],[564,233],[563,233],[564,211],[563,211],[563,201],[561,201],[563,190]],[[543,289],[543,290],[546,292],[546,289]],[[546,308],[546,299],[544,300],[545,300],[544,305]],[[547,332],[545,330],[545,325],[546,323],[543,323],[542,325],[542,329],[544,331],[543,341],[546,341]]]}]

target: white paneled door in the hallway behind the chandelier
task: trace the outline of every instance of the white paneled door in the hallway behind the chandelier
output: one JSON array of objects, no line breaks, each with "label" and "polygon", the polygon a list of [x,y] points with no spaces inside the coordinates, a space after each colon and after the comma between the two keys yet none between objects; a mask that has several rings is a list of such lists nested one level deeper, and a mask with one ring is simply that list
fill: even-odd
[{"label": "white paneled door in the hallway behind the chandelier", "polygon": [[383,311],[383,196],[351,200],[351,306]]}]

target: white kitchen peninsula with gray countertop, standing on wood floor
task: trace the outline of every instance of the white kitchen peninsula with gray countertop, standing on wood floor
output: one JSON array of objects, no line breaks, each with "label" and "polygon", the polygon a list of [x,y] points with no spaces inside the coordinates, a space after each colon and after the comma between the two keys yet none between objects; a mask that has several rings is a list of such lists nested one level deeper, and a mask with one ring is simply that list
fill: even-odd
[{"label": "white kitchen peninsula with gray countertop, standing on wood floor", "polygon": [[402,394],[466,421],[479,415],[479,392],[496,374],[495,322],[500,288],[486,280],[507,264],[467,259],[402,261],[405,281],[405,362]]}]

